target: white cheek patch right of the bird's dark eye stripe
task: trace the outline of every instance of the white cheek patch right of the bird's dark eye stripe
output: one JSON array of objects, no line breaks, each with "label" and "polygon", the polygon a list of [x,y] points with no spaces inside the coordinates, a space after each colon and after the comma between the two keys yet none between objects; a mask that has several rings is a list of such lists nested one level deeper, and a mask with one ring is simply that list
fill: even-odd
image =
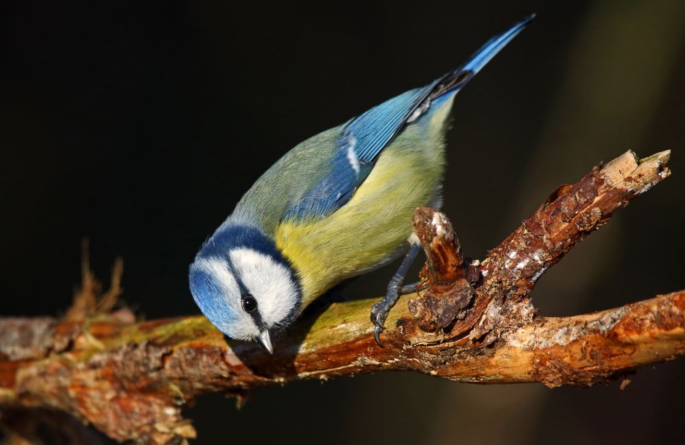
[{"label": "white cheek patch right of the bird's dark eye stripe", "polygon": [[269,327],[283,322],[298,304],[296,283],[287,267],[248,248],[229,252],[233,269],[257,300],[257,309]]}]

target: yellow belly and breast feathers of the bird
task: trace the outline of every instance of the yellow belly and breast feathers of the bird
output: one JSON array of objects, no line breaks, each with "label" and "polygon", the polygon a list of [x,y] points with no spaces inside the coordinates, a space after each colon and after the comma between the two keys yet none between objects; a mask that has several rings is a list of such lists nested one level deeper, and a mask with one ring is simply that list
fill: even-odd
[{"label": "yellow belly and breast feathers of the bird", "polygon": [[396,256],[411,234],[413,211],[431,202],[443,169],[442,141],[398,138],[347,204],[319,221],[280,224],[276,246],[298,270],[302,307]]}]

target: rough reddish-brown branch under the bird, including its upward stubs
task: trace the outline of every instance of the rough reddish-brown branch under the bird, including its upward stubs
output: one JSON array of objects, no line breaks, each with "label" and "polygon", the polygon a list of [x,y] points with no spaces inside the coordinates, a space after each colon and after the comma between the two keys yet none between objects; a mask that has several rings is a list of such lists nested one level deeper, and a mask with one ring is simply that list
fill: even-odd
[{"label": "rough reddish-brown branch under the bird, including its upward stubs", "polygon": [[616,209],[660,182],[669,152],[632,152],[557,189],[484,261],[461,255],[448,219],[418,209],[426,290],[390,313],[385,348],[372,300],[308,310],[275,354],[225,339],[204,317],[135,323],[0,319],[0,404],[65,411],[116,440],[194,437],[180,409],[199,394],[243,396],[303,378],[409,370],[473,383],[592,385],[685,351],[685,291],[575,317],[539,317],[529,292]]}]

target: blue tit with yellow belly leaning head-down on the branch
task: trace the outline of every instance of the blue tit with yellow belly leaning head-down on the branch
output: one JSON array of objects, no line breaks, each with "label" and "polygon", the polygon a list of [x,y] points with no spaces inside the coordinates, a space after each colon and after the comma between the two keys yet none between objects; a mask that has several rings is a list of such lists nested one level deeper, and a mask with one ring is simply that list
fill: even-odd
[{"label": "blue tit with yellow belly leaning head-down on the branch", "polygon": [[315,298],[405,254],[372,310],[378,341],[420,250],[413,211],[440,206],[455,94],[531,19],[488,40],[459,69],[280,158],[195,256],[189,282],[202,313],[228,337],[260,341],[273,352],[272,332]]}]

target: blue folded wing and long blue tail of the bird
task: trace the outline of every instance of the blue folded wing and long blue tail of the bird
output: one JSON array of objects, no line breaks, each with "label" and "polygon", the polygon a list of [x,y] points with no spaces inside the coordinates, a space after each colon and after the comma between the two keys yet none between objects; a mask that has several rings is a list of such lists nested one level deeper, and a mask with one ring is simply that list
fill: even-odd
[{"label": "blue folded wing and long blue tail of the bird", "polygon": [[[534,15],[533,15],[534,16]],[[527,25],[533,16],[488,40],[466,63],[423,88],[407,91],[383,102],[344,125],[331,172],[286,217],[325,217],[346,204],[366,179],[383,149],[405,127],[431,108],[431,101],[453,95]]]}]

